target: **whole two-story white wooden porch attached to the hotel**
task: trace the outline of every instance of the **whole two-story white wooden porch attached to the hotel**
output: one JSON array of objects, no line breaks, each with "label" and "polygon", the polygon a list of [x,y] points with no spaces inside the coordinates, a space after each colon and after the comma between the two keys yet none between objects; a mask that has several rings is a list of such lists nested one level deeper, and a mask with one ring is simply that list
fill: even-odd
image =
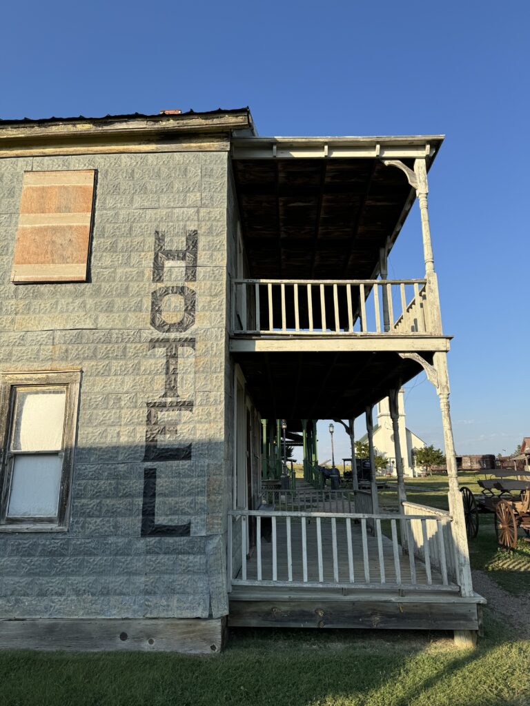
[{"label": "whole two-story white wooden porch attached to the hotel", "polygon": [[[483,599],[471,583],[449,412],[450,337],[428,214],[427,175],[441,143],[441,136],[234,141],[232,359],[261,419],[341,421],[353,479],[346,496],[324,488],[314,500],[297,483],[273,502],[261,494],[259,503],[234,503],[230,625],[437,628],[469,640],[479,629]],[[416,198],[425,270],[389,279],[389,253]],[[445,513],[406,498],[398,395],[422,371],[440,402]],[[395,513],[379,510],[375,481],[372,410],[384,397]],[[355,470],[360,415],[370,450],[365,493]]]}]

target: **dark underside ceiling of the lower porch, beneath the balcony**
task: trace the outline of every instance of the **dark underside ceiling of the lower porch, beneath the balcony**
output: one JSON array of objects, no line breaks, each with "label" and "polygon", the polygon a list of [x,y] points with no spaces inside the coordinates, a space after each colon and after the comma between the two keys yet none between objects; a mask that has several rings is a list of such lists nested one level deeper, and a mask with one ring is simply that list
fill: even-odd
[{"label": "dark underside ceiling of the lower porch, beneath the balcony", "polygon": [[[350,419],[422,371],[394,352],[236,354],[264,419]],[[425,354],[432,362],[432,354]]]}]

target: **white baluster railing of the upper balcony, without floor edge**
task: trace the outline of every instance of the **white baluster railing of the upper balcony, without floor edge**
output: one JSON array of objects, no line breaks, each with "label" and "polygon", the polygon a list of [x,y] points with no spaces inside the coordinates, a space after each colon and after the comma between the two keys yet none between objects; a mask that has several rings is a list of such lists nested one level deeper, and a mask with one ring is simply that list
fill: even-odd
[{"label": "white baluster railing of the upper balcony, without floor edge", "polygon": [[233,335],[430,332],[427,280],[234,280]]}]

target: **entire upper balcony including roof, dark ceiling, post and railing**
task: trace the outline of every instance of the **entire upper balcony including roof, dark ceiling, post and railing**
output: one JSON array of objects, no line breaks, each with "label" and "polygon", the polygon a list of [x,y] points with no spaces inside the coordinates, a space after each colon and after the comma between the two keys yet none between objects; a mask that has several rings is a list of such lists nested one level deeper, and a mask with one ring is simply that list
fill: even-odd
[{"label": "entire upper balcony including roof, dark ceiling, post and railing", "polygon": [[[447,351],[427,209],[442,139],[232,138],[232,351]],[[417,197],[425,276],[389,280]]]}]

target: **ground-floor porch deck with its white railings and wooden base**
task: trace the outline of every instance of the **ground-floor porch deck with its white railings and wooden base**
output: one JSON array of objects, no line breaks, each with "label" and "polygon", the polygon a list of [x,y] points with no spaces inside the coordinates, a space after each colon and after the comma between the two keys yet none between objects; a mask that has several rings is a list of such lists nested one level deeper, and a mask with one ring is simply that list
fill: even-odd
[{"label": "ground-floor porch deck with its white railings and wooden base", "polygon": [[449,513],[374,513],[370,492],[304,488],[272,506],[229,513],[229,626],[445,629],[467,641],[480,629],[484,601],[461,590]]}]

